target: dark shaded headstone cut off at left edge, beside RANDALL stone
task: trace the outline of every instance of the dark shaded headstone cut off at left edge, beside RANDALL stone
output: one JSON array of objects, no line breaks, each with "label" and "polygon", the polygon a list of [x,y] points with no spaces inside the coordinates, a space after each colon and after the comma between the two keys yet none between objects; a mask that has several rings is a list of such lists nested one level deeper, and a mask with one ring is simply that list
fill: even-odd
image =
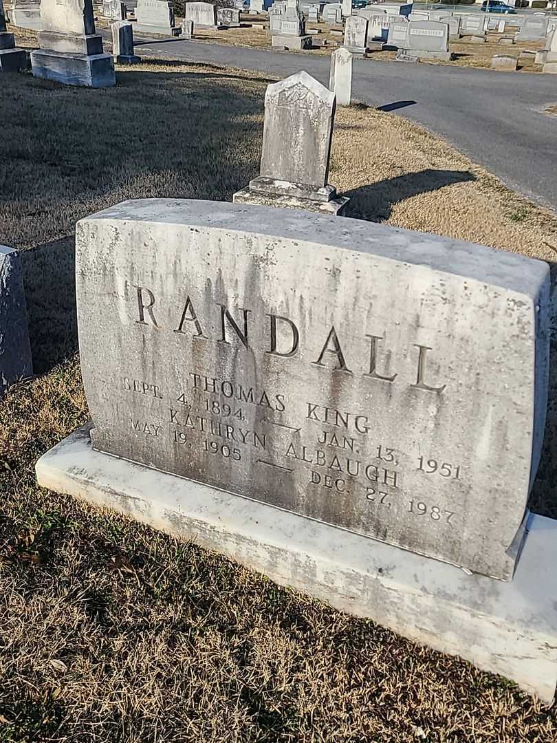
[{"label": "dark shaded headstone cut off at left edge, beside RANDALL stone", "polygon": [[31,374],[22,263],[16,250],[0,245],[0,397]]}]

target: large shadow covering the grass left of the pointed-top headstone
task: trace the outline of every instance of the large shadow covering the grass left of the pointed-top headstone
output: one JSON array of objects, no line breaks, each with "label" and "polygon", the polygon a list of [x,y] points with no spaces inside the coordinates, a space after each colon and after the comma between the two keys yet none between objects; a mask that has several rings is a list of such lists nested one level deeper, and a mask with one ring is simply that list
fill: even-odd
[{"label": "large shadow covering the grass left of the pointed-top headstone", "polygon": [[76,221],[126,199],[232,201],[258,170],[265,80],[209,65],[117,80],[93,90],[6,75],[0,86],[1,241],[22,250],[36,374],[77,348]]}]

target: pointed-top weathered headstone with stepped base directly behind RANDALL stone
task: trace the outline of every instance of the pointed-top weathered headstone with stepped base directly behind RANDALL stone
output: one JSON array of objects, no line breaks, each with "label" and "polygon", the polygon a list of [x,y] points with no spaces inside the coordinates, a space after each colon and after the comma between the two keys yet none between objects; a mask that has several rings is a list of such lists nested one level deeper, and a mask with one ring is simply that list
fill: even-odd
[{"label": "pointed-top weathered headstone with stepped base directly behind RANDALL stone", "polygon": [[327,183],[334,113],[334,94],[307,72],[269,85],[260,176],[235,203],[342,211],[348,199]]}]

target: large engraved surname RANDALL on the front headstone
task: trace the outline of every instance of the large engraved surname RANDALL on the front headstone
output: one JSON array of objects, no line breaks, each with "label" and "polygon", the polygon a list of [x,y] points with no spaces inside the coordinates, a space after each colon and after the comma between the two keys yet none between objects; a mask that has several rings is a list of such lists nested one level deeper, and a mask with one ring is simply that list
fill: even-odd
[{"label": "large engraved surname RANDALL on the front headstone", "polygon": [[[151,289],[143,286],[132,285],[137,293],[137,319],[135,322],[137,325],[145,325],[147,327],[154,328],[156,331],[160,331],[160,323],[157,320],[156,305],[157,298]],[[183,304],[183,308],[177,315],[176,326],[172,328],[172,331],[176,334],[189,335],[193,340],[198,342],[214,342],[224,343],[229,345],[231,338],[236,337],[236,340],[241,343],[247,350],[253,350],[250,346],[250,322],[253,322],[252,311],[249,308],[238,308],[237,311],[230,311],[226,305],[215,302],[215,313],[218,318],[218,334],[214,338],[209,338],[206,331],[203,330],[203,322],[200,319],[198,312],[195,309],[195,305],[189,295]],[[238,315],[241,315],[241,319],[237,319]],[[291,358],[298,354],[301,338],[299,328],[296,323],[288,317],[283,315],[277,315],[273,313],[265,314],[268,320],[265,320],[264,328],[267,329],[268,335],[268,347],[261,349],[265,354],[271,356],[278,356],[281,358]],[[281,326],[281,348],[278,348],[278,334],[277,328]],[[188,333],[189,329],[189,333]],[[290,334],[289,342],[284,340],[284,334]],[[334,328],[330,326],[328,333],[325,335],[325,340],[321,343],[313,345],[314,353],[312,354],[315,360],[311,361],[312,366],[323,367],[328,371],[343,371],[345,374],[354,374],[354,370],[351,368],[352,363],[348,355],[348,351],[343,347],[342,338]],[[364,377],[368,377],[374,380],[378,380],[380,383],[393,384],[397,383],[399,373],[387,374],[378,370],[379,362],[378,357],[380,356],[380,346],[385,342],[385,335],[374,335],[365,333],[364,337],[368,339],[369,343],[369,363],[366,371],[362,372]],[[313,341],[313,337],[311,338]],[[421,389],[426,392],[434,392],[438,395],[442,394],[446,389],[446,384],[432,384],[431,380],[426,381],[427,373],[427,358],[428,354],[433,351],[431,346],[422,345],[420,343],[413,343],[414,351],[411,357],[408,358],[409,363],[414,366],[414,383],[409,386],[414,389]],[[349,349],[348,349],[349,350]],[[388,351],[383,352],[385,356],[390,356]]]}]

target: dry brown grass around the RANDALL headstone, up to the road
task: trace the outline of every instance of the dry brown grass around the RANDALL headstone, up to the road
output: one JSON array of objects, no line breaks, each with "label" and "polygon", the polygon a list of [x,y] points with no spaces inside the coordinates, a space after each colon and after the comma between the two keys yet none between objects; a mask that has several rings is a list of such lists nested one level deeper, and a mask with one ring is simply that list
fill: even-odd
[{"label": "dry brown grass around the RANDALL headstone, up to the road", "polygon": [[[2,241],[22,250],[36,371],[0,401],[0,741],[554,742],[555,711],[502,678],[36,485],[39,455],[88,420],[76,220],[231,201],[258,172],[269,78],[157,60],[117,76],[0,88]],[[348,216],[557,254],[553,212],[394,114],[339,108],[330,183]],[[554,407],[532,507],[556,518]]]}]

